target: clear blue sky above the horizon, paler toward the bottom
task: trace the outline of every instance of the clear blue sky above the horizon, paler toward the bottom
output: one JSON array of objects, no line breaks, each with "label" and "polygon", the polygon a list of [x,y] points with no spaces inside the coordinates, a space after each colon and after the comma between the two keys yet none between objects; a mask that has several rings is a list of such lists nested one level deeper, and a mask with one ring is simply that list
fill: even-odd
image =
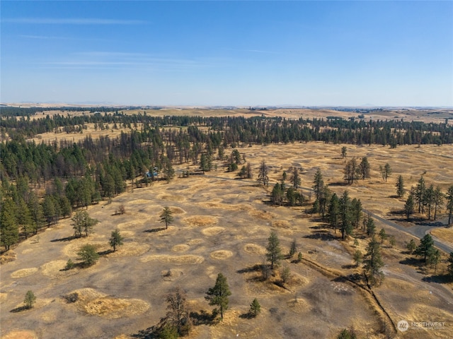
[{"label": "clear blue sky above the horizon, paler toward the bottom", "polygon": [[1,102],[453,106],[452,1],[1,1]]}]

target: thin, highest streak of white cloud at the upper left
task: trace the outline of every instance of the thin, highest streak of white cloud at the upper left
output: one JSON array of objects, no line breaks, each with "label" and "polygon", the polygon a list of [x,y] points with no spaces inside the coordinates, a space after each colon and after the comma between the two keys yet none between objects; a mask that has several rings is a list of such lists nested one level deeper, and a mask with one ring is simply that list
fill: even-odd
[{"label": "thin, highest streak of white cloud at the upper left", "polygon": [[4,18],[2,23],[25,25],[143,25],[143,20],[118,20],[104,18]]}]

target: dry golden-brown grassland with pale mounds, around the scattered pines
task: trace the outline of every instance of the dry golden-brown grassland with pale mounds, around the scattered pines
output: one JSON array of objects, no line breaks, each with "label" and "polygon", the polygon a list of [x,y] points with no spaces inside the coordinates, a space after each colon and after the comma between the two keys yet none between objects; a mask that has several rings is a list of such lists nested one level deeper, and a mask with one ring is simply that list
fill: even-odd
[{"label": "dry golden-brown grassland with pale mounds, around the scattered pines", "polygon": [[[120,109],[119,109],[120,110]],[[134,113],[134,112],[130,112]],[[147,114],[171,115],[244,115],[268,114],[288,118],[338,115],[348,112],[325,112],[310,109],[280,109],[249,112],[246,109],[206,112],[197,109],[149,110]],[[385,113],[385,114],[384,114]],[[433,119],[419,112],[384,112],[373,119]],[[310,115],[312,114],[312,115]],[[420,117],[416,114],[420,114]],[[395,118],[396,119],[396,118]],[[437,119],[437,118],[436,118]],[[444,118],[438,118],[443,121]],[[450,122],[451,124],[451,122]],[[103,131],[103,134],[120,133]],[[97,135],[91,126],[82,134],[49,133],[40,141],[55,138],[84,138]],[[421,266],[406,252],[406,243],[415,239],[384,222],[376,221],[377,230],[384,228],[396,237],[392,247],[382,244],[385,280],[372,292],[345,277],[362,272],[353,265],[352,253],[365,253],[367,239],[358,234],[358,245],[348,237],[340,239],[317,215],[304,206],[272,206],[269,203],[273,184],[283,171],[290,177],[293,167],[300,169],[306,198],[317,169],[332,191],[342,194],[348,189],[352,198],[360,198],[364,208],[408,230],[425,227],[435,237],[453,246],[452,229],[421,220],[418,225],[405,222],[401,210],[404,198],[396,198],[395,182],[403,176],[406,188],[423,174],[426,183],[439,185],[445,192],[453,184],[453,145],[406,145],[391,149],[380,145],[348,148],[348,159],[367,156],[372,167],[371,178],[346,186],[343,182],[345,160],[343,145],[294,143],[288,145],[253,145],[239,148],[253,169],[253,179],[237,179],[237,172],[217,169],[205,175],[177,177],[170,183],[155,182],[142,189],[129,188],[111,203],[101,201],[90,206],[88,213],[100,220],[94,233],[81,239],[73,234],[71,220],[60,220],[38,236],[31,237],[5,256],[12,261],[0,266],[0,337],[28,338],[149,338],[147,328],[159,322],[166,313],[165,296],[176,287],[188,296],[195,326],[188,338],[336,338],[343,328],[353,326],[358,338],[452,338],[453,284],[442,279],[447,263],[437,271]],[[226,150],[228,153],[229,150]],[[258,186],[258,166],[265,160],[269,167],[270,185]],[[386,162],[393,173],[383,182],[379,165]],[[188,165],[176,166],[180,174]],[[191,167],[195,169],[195,167]],[[287,182],[289,184],[289,182]],[[119,206],[126,213],[115,215]],[[174,221],[162,229],[159,215],[168,206]],[[444,211],[442,211],[444,213]],[[419,215],[415,215],[420,217]],[[445,214],[440,215],[445,224]],[[118,229],[125,242],[110,252],[110,232]],[[291,270],[286,285],[280,283],[280,268],[270,280],[260,279],[256,267],[265,261],[265,247],[271,231],[277,232],[284,254],[295,239],[304,259],[296,263],[285,258],[282,266]],[[418,243],[418,239],[415,239]],[[101,253],[100,260],[89,268],[63,270],[68,259],[78,262],[76,252],[83,244],[93,244]],[[205,293],[222,272],[232,295],[224,320],[206,323],[205,313],[212,307]],[[25,292],[33,290],[37,302],[33,309],[23,309]],[[77,292],[79,299],[68,303],[63,298]],[[246,313],[257,298],[262,311],[255,319]],[[398,321],[438,321],[439,328],[409,328],[395,331]]]}]

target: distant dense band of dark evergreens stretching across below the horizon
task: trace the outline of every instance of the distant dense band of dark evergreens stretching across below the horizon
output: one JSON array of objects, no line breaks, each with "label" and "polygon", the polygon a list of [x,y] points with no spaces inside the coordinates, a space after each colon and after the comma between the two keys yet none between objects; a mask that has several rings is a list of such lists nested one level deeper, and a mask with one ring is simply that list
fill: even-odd
[{"label": "distant dense band of dark evergreens stretching across below the horizon", "polygon": [[[42,109],[41,109],[42,110]],[[86,109],[85,109],[86,110]],[[111,110],[111,109],[110,109]],[[231,143],[289,143],[295,141],[324,141],[326,143],[354,143],[358,145],[378,143],[382,145],[445,144],[453,143],[453,126],[442,123],[401,120],[357,119],[285,119],[281,117],[151,117],[123,112],[99,112],[71,117],[67,113],[46,115],[40,119],[21,117],[17,119],[2,108],[2,131],[32,137],[44,132],[79,133],[86,124],[95,128],[137,128],[163,126],[206,126],[213,131],[224,131],[224,142]],[[93,112],[93,109],[89,109]],[[106,126],[108,125],[108,126]],[[76,129],[73,127],[77,126]],[[66,128],[66,129],[64,129]],[[199,137],[201,134],[200,133]],[[198,140],[200,141],[200,140]]]}]

